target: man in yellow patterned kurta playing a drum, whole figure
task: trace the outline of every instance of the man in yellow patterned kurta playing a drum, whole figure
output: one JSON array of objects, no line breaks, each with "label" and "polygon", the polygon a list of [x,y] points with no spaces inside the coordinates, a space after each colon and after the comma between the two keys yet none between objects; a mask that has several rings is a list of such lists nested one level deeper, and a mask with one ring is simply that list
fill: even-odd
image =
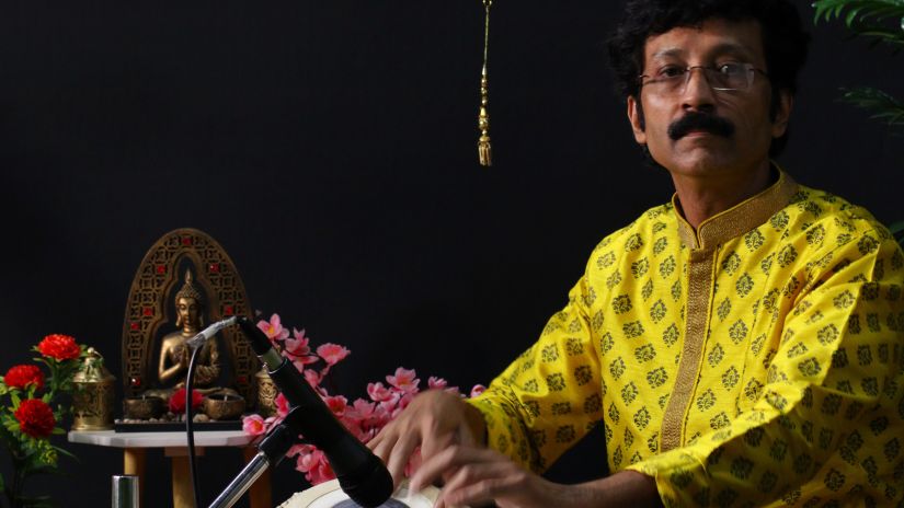
[{"label": "man in yellow patterned kurta playing a drum, whole figure", "polygon": [[[483,395],[415,399],[370,447],[438,506],[904,503],[904,256],[781,149],[808,37],[785,0],[633,0],[610,55],[672,203],[603,240]],[[613,474],[542,472],[598,422]]]}]

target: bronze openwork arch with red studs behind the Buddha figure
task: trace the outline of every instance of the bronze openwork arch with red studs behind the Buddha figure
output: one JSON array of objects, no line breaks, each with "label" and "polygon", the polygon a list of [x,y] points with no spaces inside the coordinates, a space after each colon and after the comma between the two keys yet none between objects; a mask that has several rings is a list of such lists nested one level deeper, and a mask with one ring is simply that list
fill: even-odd
[{"label": "bronze openwork arch with red studs behind the Buddha figure", "polygon": [[[196,229],[170,231],[145,255],[131,282],[123,323],[123,380],[127,396],[158,384],[156,369],[160,337],[175,330],[173,295],[191,269],[204,292],[207,323],[232,315],[251,316],[251,304],[236,264],[213,238]],[[253,401],[259,362],[237,327],[220,333],[228,353],[226,383]]]}]

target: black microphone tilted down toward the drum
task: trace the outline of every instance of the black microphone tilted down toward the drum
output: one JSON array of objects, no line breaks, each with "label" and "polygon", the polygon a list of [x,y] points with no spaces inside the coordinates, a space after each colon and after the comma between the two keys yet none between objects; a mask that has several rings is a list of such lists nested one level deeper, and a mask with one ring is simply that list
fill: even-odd
[{"label": "black microphone tilted down toward the drum", "polygon": [[382,461],[336,419],[298,369],[273,348],[263,331],[244,316],[238,319],[238,324],[289,406],[302,415],[286,423],[323,451],[339,485],[352,500],[365,508],[382,505],[393,489]]}]

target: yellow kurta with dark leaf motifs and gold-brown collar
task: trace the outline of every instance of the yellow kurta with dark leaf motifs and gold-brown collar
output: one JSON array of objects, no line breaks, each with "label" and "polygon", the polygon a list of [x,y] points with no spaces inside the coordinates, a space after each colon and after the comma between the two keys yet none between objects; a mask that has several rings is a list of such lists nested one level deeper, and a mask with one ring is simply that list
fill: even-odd
[{"label": "yellow kurta with dark leaf motifs and gold-brown collar", "polygon": [[783,173],[696,232],[661,206],[471,403],[538,472],[602,420],[666,506],[904,503],[903,282],[869,212]]}]

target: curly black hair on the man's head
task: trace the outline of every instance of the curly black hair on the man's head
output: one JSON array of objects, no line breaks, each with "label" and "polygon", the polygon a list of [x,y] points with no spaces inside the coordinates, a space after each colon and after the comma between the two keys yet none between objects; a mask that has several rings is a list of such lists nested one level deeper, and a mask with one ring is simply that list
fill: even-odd
[{"label": "curly black hair on the man's head", "polygon": [[[798,90],[798,73],[806,61],[810,43],[797,8],[788,0],[628,0],[621,23],[608,42],[619,93],[623,97],[638,96],[649,37],[679,26],[700,26],[711,19],[759,23],[773,86],[770,113],[775,115],[778,92],[793,95]],[[780,152],[786,141],[785,136],[775,139],[770,155]]]}]

